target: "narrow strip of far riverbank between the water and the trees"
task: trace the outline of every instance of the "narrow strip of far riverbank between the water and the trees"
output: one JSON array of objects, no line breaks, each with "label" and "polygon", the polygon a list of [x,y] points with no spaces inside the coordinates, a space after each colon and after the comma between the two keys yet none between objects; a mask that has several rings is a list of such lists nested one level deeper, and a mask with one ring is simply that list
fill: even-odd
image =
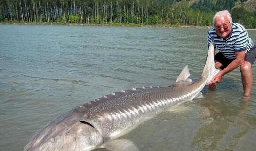
[{"label": "narrow strip of far riverbank between the water and the trees", "polygon": [[64,25],[64,26],[125,26],[125,27],[166,27],[166,28],[211,28],[211,26],[188,26],[188,25],[170,25],[170,24],[159,24],[159,25],[145,25],[145,24],[134,24],[134,23],[112,23],[112,24],[80,24],[80,23],[63,23],[63,22],[0,22],[0,24],[17,24],[17,25]]}]

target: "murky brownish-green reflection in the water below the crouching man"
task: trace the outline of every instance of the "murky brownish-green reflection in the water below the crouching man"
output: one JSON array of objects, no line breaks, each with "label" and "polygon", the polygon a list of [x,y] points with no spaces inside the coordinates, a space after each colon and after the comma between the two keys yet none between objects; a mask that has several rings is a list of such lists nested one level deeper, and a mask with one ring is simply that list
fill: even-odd
[{"label": "murky brownish-green reflection in the water below the crouching man", "polygon": [[[202,125],[192,139],[192,146],[204,151],[233,151],[250,134],[255,126],[255,117],[248,116],[250,102],[248,98],[213,100],[214,92],[209,93],[205,101],[198,104]],[[252,123],[253,122],[253,123]]]}]

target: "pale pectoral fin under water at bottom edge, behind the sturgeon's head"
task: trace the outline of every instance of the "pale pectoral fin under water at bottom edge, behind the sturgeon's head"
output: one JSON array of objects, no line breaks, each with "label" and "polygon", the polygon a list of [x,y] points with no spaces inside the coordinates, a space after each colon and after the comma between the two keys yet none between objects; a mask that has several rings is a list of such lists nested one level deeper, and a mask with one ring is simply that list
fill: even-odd
[{"label": "pale pectoral fin under water at bottom edge, behind the sturgeon's head", "polygon": [[139,151],[139,149],[128,139],[115,139],[104,144],[109,151]]}]

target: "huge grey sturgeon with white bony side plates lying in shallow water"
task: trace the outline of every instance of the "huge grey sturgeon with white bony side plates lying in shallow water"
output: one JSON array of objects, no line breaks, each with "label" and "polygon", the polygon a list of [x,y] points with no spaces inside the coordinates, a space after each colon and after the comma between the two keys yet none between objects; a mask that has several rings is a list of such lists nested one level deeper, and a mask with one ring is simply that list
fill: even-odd
[{"label": "huge grey sturgeon with white bony side plates lying in shallow water", "polygon": [[41,128],[24,151],[90,151],[102,147],[141,121],[197,97],[216,72],[211,44],[198,81],[189,79],[186,66],[173,86],[133,88],[97,98]]}]

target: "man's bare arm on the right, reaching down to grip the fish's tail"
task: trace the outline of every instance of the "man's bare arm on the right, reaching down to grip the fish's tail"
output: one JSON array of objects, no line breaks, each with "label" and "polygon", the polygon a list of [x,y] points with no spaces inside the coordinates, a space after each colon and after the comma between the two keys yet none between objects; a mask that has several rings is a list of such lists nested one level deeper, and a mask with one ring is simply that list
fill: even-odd
[{"label": "man's bare arm on the right, reaching down to grip the fish's tail", "polygon": [[222,76],[234,70],[244,63],[245,51],[236,52],[236,59],[233,60],[226,68],[220,71],[217,75],[213,77],[210,83],[207,85],[211,85],[214,83],[219,83],[221,81]]}]

